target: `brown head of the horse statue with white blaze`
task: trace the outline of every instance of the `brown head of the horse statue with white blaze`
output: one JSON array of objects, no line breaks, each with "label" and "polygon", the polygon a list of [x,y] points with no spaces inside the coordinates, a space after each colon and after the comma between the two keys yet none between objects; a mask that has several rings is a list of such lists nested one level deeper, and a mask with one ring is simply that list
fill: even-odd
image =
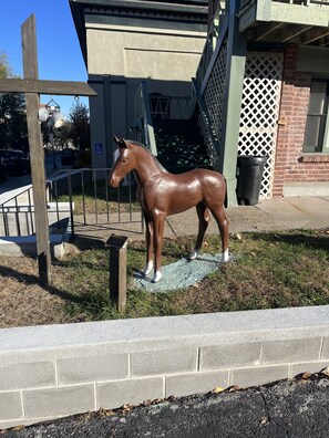
[{"label": "brown head of the horse statue with white blaze", "polygon": [[119,157],[112,168],[109,182],[112,187],[117,187],[121,180],[135,167],[135,157],[132,154],[132,144],[124,138],[113,137],[119,146]]}]

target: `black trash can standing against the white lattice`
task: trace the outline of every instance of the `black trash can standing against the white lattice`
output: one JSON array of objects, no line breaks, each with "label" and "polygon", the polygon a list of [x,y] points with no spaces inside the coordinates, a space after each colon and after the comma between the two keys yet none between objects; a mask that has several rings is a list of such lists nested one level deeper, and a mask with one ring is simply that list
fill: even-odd
[{"label": "black trash can standing against the white lattice", "polygon": [[237,200],[240,205],[255,206],[259,200],[266,156],[240,155],[237,160]]}]

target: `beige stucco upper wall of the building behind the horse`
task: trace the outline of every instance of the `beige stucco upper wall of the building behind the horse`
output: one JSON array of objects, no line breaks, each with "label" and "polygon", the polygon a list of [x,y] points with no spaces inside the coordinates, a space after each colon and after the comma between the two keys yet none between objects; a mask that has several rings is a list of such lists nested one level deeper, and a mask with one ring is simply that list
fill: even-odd
[{"label": "beige stucco upper wall of the building behind the horse", "polygon": [[189,81],[195,75],[205,33],[110,27],[86,31],[90,74]]}]

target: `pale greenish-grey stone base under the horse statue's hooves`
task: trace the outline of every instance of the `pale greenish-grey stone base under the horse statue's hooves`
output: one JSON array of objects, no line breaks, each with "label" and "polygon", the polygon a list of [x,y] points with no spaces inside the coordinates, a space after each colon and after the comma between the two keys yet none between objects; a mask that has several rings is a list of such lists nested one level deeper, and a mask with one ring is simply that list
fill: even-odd
[{"label": "pale greenish-grey stone base under the horse statue's hooves", "polygon": [[168,292],[197,284],[210,272],[216,271],[222,263],[220,254],[201,253],[196,260],[181,259],[175,263],[162,268],[162,280],[153,283],[153,271],[144,277],[143,272],[136,272],[133,286],[146,290],[151,293]]}]

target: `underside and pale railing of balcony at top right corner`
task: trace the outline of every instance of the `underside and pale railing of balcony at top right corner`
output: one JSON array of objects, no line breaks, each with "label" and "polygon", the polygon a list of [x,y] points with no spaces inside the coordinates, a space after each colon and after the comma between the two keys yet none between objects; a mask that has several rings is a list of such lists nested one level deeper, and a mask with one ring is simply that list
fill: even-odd
[{"label": "underside and pale railing of balcony at top right corner", "polygon": [[329,46],[329,0],[241,0],[248,41]]}]

